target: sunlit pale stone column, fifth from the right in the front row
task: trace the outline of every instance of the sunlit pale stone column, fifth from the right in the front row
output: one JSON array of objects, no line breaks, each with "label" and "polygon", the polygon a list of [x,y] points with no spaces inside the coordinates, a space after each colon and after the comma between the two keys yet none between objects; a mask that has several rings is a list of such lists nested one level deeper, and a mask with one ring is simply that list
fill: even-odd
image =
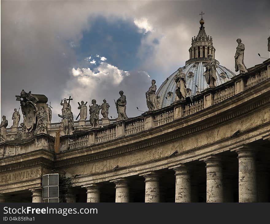
[{"label": "sunlit pale stone column, fifth from the right in the front row", "polygon": [[115,202],[129,202],[128,181],[125,178],[114,180],[115,183]]}]

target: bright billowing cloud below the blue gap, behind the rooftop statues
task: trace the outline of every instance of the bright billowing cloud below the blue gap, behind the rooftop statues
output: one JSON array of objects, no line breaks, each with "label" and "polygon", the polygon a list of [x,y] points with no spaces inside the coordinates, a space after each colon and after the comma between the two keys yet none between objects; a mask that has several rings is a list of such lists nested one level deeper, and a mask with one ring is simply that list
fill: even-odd
[{"label": "bright billowing cloud below the blue gap, behind the rooftop statues", "polygon": [[76,110],[76,102],[81,100],[91,102],[91,99],[96,99],[97,103],[101,104],[102,99],[106,98],[110,104],[109,116],[114,118],[117,117],[114,99],[118,99],[119,91],[123,90],[127,97],[127,115],[135,117],[140,115],[136,106],[141,110],[147,110],[145,92],[150,85],[151,79],[145,71],[123,71],[112,64],[103,62],[95,68],[95,71],[91,68],[72,68],[71,78],[67,81],[62,97],[71,95],[75,99],[71,102],[74,115],[79,113],[79,110]]}]

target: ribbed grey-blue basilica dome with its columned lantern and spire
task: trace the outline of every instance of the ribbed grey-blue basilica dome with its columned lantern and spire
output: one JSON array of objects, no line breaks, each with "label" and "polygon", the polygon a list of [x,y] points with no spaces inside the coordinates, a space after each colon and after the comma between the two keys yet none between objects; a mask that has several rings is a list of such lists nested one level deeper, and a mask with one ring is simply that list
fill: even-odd
[{"label": "ribbed grey-blue basilica dome with its columned lantern and spire", "polygon": [[[212,37],[205,33],[203,18],[200,21],[200,30],[197,37],[192,37],[191,47],[189,48],[189,60],[186,65],[182,67],[183,73],[186,75],[187,96],[195,96],[204,89],[208,88],[205,79],[205,71],[207,64],[207,55],[212,54],[215,59],[215,48],[213,47]],[[219,64],[218,60],[216,75],[217,85],[229,81],[235,74],[226,67]],[[170,75],[159,87],[156,92],[158,98],[158,107],[163,108],[169,106],[176,101],[176,83],[174,81],[178,71]]]}]

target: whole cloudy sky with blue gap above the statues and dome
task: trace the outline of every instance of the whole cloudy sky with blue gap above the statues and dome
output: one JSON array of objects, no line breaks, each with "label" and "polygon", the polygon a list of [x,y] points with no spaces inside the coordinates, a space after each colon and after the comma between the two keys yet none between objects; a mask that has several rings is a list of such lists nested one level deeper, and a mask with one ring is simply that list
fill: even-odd
[{"label": "whole cloudy sky with blue gap above the statues and dome", "polygon": [[[1,114],[10,126],[15,95],[44,94],[58,122],[60,101],[98,104],[124,91],[127,115],[146,111],[145,91],[189,59],[191,37],[205,13],[216,59],[234,71],[236,39],[245,44],[245,64],[269,57],[270,1],[1,1]],[[89,115],[88,115],[89,117]],[[88,118],[87,118],[88,119]]]}]

